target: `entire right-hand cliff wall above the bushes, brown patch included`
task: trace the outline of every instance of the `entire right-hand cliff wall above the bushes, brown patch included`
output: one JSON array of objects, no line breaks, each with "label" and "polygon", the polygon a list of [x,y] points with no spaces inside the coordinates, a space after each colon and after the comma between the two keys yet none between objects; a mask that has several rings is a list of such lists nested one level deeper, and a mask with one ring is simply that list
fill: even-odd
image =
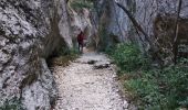
[{"label": "entire right-hand cliff wall above the bushes, brown patch included", "polygon": [[[116,3],[115,0],[96,0],[97,24],[100,25],[101,44],[113,44],[114,37],[122,42],[137,41],[146,51],[149,45],[169,48],[175,37],[175,21],[177,18],[178,0],[116,0],[125,7],[148,35],[146,37]],[[188,19],[188,1],[182,1],[180,22],[185,22],[179,33],[186,33]],[[164,24],[164,25],[160,25]],[[182,24],[182,23],[181,23]],[[106,35],[103,34],[105,32]],[[102,37],[104,36],[104,37]],[[156,38],[157,37],[157,38]],[[164,38],[165,37],[165,38]],[[170,38],[169,38],[170,37]],[[182,37],[182,36],[179,36]],[[149,41],[156,41],[150,42]],[[107,43],[105,41],[108,41]],[[168,43],[167,43],[168,42]],[[160,48],[158,48],[160,50]],[[167,54],[170,54],[169,52]]]}]

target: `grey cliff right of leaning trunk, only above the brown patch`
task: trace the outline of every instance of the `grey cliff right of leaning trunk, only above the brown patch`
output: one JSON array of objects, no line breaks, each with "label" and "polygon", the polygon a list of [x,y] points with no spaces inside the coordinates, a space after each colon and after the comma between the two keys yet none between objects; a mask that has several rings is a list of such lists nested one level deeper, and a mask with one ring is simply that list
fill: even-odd
[{"label": "grey cliff right of leaning trunk, only above the brown patch", "polygon": [[[157,0],[135,0],[136,3],[136,11],[135,11],[135,18],[138,21],[138,23],[143,26],[145,32],[149,36],[155,36],[155,28],[158,25],[156,24],[158,21],[157,18],[168,18],[168,19],[176,19],[177,11],[178,11],[178,0],[164,0],[164,1],[157,1]],[[188,11],[188,4],[187,1],[182,2],[181,6],[181,13],[180,18],[188,18],[186,11]],[[168,25],[165,23],[164,25]],[[174,24],[173,24],[174,23]],[[175,21],[171,23],[171,26],[175,25]],[[168,30],[168,29],[167,29]],[[167,30],[164,30],[167,32]]]}]

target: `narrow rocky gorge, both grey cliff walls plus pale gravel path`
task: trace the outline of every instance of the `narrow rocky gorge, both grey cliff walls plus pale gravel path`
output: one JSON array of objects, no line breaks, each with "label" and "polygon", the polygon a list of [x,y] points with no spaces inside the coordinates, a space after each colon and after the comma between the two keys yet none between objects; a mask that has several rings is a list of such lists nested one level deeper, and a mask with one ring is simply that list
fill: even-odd
[{"label": "narrow rocky gorge, both grey cliff walls plus pale gravel path", "polygon": [[72,6],[75,1],[82,0],[0,0],[0,109],[12,105],[18,110],[132,109],[119,96],[114,66],[103,54],[86,53],[67,67],[49,69],[49,58],[77,50],[80,29],[86,46],[96,51],[136,42],[157,67],[176,57],[175,36],[175,46],[185,43],[186,52],[179,56],[188,56],[187,0],[83,0]]}]

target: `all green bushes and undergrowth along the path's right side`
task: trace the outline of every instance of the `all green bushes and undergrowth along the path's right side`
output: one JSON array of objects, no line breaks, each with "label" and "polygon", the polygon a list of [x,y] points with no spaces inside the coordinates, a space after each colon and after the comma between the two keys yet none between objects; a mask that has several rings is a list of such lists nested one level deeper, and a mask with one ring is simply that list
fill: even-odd
[{"label": "all green bushes and undergrowth along the path's right side", "polygon": [[139,110],[175,110],[188,107],[188,59],[163,69],[149,67],[149,58],[135,44],[118,44],[107,54],[121,68],[125,88]]}]

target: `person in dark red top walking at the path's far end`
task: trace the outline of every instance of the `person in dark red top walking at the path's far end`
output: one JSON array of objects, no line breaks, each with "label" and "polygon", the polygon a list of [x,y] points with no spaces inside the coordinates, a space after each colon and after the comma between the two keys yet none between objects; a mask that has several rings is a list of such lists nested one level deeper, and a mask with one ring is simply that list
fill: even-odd
[{"label": "person in dark red top walking at the path's far end", "polygon": [[84,47],[84,33],[81,31],[81,33],[77,35],[77,43],[79,43],[79,52],[83,53],[83,47]]}]

